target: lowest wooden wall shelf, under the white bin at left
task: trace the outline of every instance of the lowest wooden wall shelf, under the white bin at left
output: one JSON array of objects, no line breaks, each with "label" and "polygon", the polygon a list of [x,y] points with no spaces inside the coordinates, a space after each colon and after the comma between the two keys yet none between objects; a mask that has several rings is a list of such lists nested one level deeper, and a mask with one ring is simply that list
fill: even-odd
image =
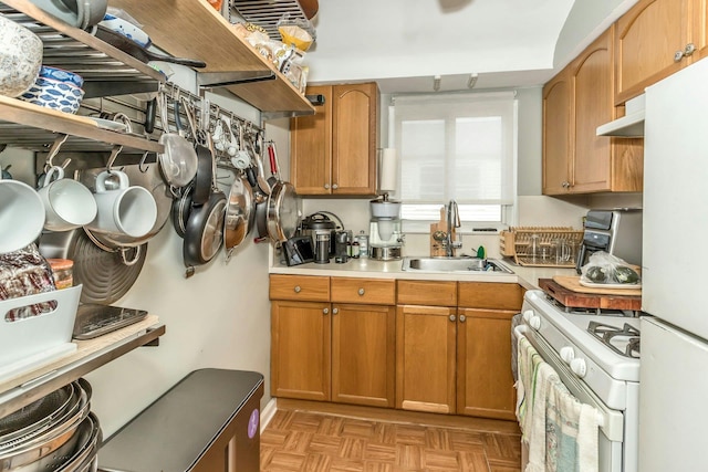
[{"label": "lowest wooden wall shelf, under the white bin at left", "polygon": [[131,350],[156,343],[165,325],[155,315],[139,323],[88,340],[74,340],[72,354],[0,384],[0,418],[71,384],[79,377]]}]

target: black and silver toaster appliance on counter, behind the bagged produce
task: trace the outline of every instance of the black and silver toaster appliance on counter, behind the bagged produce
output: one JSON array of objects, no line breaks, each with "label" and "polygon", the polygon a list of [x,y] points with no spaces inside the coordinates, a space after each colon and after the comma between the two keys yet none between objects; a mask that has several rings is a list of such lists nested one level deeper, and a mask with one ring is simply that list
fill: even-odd
[{"label": "black and silver toaster appliance on counter, behind the bagged produce", "polygon": [[605,251],[631,264],[642,264],[642,209],[590,210],[585,217],[583,242],[575,269],[597,251]]}]

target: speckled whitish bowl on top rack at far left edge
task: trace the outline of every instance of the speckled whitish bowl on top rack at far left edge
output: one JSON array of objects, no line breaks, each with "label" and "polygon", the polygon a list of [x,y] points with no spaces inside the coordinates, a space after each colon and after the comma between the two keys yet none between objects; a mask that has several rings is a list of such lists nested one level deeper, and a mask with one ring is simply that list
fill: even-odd
[{"label": "speckled whitish bowl on top rack at far left edge", "polygon": [[17,97],[32,86],[42,65],[42,40],[0,17],[0,94]]}]

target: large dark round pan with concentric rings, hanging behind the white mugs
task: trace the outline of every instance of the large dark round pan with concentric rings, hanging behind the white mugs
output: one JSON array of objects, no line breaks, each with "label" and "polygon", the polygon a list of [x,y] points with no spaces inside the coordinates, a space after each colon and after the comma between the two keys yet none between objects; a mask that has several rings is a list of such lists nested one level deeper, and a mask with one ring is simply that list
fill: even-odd
[{"label": "large dark round pan with concentric rings, hanging behind the white mugs", "polygon": [[110,305],[122,298],[133,286],[147,256],[147,243],[129,250],[135,260],[126,265],[117,252],[106,252],[94,244],[83,229],[45,232],[40,237],[44,258],[74,261],[74,285],[83,284],[82,303]]}]

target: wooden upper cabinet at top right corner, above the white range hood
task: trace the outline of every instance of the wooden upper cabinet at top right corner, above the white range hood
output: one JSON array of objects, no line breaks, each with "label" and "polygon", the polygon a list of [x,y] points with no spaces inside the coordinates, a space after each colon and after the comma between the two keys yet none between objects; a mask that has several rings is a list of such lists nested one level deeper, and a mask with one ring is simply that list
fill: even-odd
[{"label": "wooden upper cabinet at top right corner, above the white range hood", "polygon": [[616,105],[706,54],[705,0],[639,0],[616,25]]}]

